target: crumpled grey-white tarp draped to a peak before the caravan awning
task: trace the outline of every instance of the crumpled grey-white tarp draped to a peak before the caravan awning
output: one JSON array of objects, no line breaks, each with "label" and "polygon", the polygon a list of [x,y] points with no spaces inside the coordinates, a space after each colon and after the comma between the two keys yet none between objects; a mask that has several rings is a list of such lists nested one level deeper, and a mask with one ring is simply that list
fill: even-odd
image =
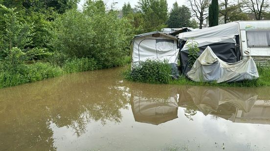
[{"label": "crumpled grey-white tarp draped to a peak before the caravan awning", "polygon": [[207,46],[197,58],[187,76],[193,81],[234,82],[259,77],[255,62],[251,57],[235,63],[227,63],[218,58]]}]

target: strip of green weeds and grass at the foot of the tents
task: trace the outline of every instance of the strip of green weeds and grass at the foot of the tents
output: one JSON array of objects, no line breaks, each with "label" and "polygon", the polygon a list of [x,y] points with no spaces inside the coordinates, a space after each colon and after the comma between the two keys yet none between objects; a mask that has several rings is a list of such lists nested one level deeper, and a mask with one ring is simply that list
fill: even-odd
[{"label": "strip of green weeds and grass at the foot of the tents", "polygon": [[[159,67],[158,67],[159,66]],[[172,79],[171,70],[168,66],[158,64],[156,61],[147,61],[141,65],[141,68],[136,68],[134,71],[126,71],[124,76],[126,79],[135,82],[147,82],[154,84],[175,84],[175,85],[202,85],[202,86],[223,86],[223,87],[261,87],[270,86],[270,66],[258,66],[259,78],[254,80],[245,80],[240,82],[195,82],[188,79],[186,76],[180,75],[179,79]],[[167,70],[163,70],[167,69]],[[160,75],[160,73],[162,73]],[[161,80],[162,79],[162,80]]]}]

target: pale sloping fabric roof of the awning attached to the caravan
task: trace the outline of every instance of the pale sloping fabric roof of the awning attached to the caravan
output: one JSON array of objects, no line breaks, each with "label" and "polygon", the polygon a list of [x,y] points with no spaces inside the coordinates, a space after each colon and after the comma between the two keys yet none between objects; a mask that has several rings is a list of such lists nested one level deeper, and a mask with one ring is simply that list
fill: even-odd
[{"label": "pale sloping fabric roof of the awning attached to the caravan", "polygon": [[211,38],[211,37],[225,37],[239,35],[239,24],[238,22],[230,22],[210,28],[205,28],[201,30],[180,33],[178,38],[180,39],[190,39],[190,38]]}]

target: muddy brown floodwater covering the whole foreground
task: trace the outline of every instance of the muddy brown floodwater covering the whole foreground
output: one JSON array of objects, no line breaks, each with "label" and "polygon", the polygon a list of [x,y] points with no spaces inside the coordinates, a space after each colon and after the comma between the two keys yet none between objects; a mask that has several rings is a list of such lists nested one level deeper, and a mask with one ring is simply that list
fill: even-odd
[{"label": "muddy brown floodwater covering the whole foreground", "polygon": [[135,83],[124,68],[0,89],[3,151],[270,151],[270,88]]}]

